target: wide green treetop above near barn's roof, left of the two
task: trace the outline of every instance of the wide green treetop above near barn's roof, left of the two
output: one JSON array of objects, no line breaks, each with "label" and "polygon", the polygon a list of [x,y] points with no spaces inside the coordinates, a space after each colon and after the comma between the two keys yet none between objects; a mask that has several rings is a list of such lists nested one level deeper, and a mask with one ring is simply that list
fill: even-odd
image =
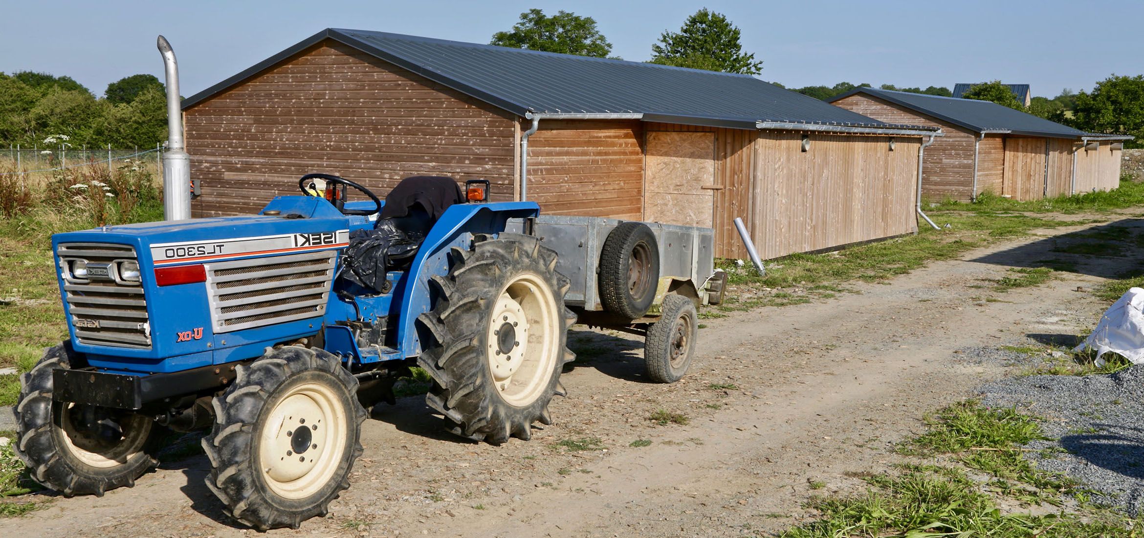
[{"label": "wide green treetop above near barn's roof, left of the two", "polygon": [[540,9],[522,13],[521,22],[511,31],[494,33],[490,45],[599,58],[612,52],[594,18],[563,10],[553,16]]}]

